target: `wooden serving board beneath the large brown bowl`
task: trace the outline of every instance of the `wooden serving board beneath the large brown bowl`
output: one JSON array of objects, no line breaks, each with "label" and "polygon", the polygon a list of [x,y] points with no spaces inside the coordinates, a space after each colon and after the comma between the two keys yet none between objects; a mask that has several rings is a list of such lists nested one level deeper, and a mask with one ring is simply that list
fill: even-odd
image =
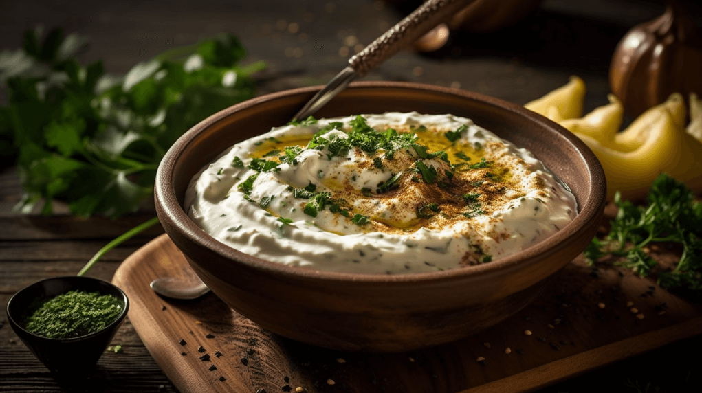
[{"label": "wooden serving board beneath the large brown bowl", "polygon": [[700,309],[654,281],[576,259],[533,304],[477,335],[401,354],[341,352],[265,331],[212,293],[176,301],[149,287],[187,274],[164,234],[113,279],[140,338],[183,393],[528,392],[702,333]]}]

